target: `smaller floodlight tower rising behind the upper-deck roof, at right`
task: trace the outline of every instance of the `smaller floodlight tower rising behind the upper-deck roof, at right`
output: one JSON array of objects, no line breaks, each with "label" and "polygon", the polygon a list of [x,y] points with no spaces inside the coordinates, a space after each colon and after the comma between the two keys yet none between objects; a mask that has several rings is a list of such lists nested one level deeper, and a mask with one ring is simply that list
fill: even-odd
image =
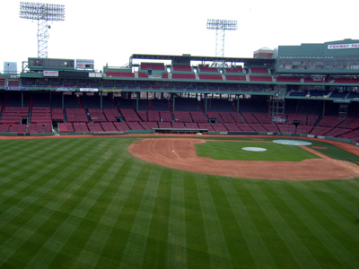
[{"label": "smaller floodlight tower rising behind the upper-deck roof, at right", "polygon": [[[215,56],[223,57],[225,31],[237,30],[237,21],[208,19],[207,29],[215,30]],[[223,61],[216,61],[214,65],[222,67],[225,63]]]}]

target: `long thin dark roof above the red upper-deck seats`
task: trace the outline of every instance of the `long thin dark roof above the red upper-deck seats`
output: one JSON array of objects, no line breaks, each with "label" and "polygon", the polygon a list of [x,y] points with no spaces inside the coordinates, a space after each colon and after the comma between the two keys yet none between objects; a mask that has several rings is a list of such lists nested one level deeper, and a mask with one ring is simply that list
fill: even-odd
[{"label": "long thin dark roof above the red upper-deck seats", "polygon": [[225,61],[226,63],[245,63],[247,65],[274,65],[276,59],[274,58],[241,58],[241,57],[216,57],[216,56],[191,56],[191,55],[151,55],[151,54],[133,54],[129,58],[132,64],[133,59],[138,60],[187,60],[200,62],[216,62]]}]

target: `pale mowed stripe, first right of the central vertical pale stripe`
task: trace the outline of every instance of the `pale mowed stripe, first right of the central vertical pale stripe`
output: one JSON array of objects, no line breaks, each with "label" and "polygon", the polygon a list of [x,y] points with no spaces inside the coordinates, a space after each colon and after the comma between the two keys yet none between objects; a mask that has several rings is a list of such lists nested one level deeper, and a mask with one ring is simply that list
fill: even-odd
[{"label": "pale mowed stripe, first right of the central vertical pale stripe", "polygon": [[232,268],[232,259],[224,238],[221,221],[207,179],[196,178],[199,204],[204,221],[206,242],[212,268]]}]

